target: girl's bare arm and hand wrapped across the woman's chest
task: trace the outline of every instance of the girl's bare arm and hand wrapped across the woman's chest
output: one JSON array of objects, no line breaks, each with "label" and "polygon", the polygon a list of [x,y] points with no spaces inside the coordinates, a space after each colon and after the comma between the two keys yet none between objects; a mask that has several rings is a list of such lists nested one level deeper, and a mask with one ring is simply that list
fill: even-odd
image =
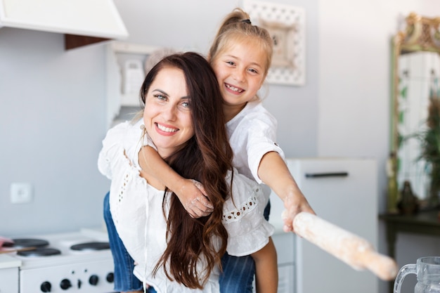
[{"label": "girl's bare arm and hand wrapped across the woman's chest", "polygon": [[141,152],[145,155],[143,171],[174,191],[190,216],[199,218],[212,213],[212,204],[205,196],[205,190],[200,182],[177,174],[150,146],[145,145]]}]

